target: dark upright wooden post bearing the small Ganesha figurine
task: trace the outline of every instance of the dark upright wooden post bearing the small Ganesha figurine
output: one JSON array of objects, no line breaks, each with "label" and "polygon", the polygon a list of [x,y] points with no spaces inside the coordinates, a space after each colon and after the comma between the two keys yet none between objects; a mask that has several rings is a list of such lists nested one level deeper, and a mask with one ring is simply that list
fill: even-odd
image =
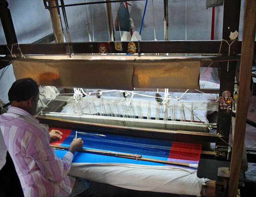
[{"label": "dark upright wooden post bearing the small Ganesha figurine", "polygon": [[[223,31],[222,38],[224,40],[230,40],[230,32],[238,31],[239,29],[239,18],[240,18],[240,4],[241,0],[225,0],[224,1],[224,13],[223,13]],[[226,44],[223,41],[222,46]],[[230,56],[236,55],[230,48]],[[228,51],[222,56],[228,56]],[[220,71],[220,96],[223,91],[229,91],[231,96],[234,93],[234,80],[236,73],[236,62],[229,62],[229,70],[227,70],[228,62],[222,62]],[[230,133],[231,116],[228,115],[226,109],[218,109],[218,122],[217,132],[224,136],[224,139],[228,141]],[[216,145],[226,145],[224,143],[216,143]]]}]

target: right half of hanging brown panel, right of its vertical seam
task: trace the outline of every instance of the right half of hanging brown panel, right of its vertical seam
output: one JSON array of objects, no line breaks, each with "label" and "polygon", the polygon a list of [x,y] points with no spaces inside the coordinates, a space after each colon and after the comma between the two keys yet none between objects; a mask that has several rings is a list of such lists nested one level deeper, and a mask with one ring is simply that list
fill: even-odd
[{"label": "right half of hanging brown panel, right of its vertical seam", "polygon": [[199,89],[200,59],[135,60],[136,88]]}]

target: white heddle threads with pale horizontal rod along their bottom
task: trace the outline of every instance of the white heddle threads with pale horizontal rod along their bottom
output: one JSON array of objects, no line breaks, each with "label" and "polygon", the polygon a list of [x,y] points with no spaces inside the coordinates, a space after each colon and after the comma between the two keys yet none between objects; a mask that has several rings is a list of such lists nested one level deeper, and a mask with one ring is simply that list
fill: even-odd
[{"label": "white heddle threads with pale horizontal rod along their bottom", "polygon": [[[44,115],[92,123],[166,130],[209,132],[209,128],[212,127],[209,124],[193,122],[195,119],[193,103],[181,103],[178,101],[168,103],[166,111],[162,111],[162,105],[150,100],[133,99],[130,102],[125,98],[98,99],[87,96],[76,99],[68,96],[57,96],[56,100],[67,101],[67,104],[71,107],[69,113],[49,112],[44,113]],[[143,115],[142,107],[147,108],[146,117]],[[155,114],[152,114],[153,108],[156,111]],[[189,116],[192,120],[191,122],[186,121],[184,112],[186,108],[190,108]],[[206,110],[206,108],[202,107],[202,110]],[[180,112],[180,117],[177,115],[178,111]],[[160,113],[164,113],[163,119],[160,119]],[[180,121],[176,121],[176,119],[180,119]]]}]

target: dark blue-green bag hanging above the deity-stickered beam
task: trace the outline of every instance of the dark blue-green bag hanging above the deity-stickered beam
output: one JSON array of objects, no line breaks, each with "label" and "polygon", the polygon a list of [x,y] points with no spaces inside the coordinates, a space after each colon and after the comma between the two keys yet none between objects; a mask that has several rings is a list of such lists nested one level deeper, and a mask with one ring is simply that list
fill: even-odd
[{"label": "dark blue-green bag hanging above the deity-stickered beam", "polygon": [[116,31],[130,31],[130,17],[129,17],[129,11],[124,7],[124,2],[120,2],[117,16],[116,16]]}]

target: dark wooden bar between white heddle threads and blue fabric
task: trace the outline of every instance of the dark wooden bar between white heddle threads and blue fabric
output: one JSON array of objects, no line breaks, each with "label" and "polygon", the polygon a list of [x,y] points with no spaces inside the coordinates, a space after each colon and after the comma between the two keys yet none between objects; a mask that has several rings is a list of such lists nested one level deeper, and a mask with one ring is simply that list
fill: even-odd
[{"label": "dark wooden bar between white heddle threads and blue fabric", "polygon": [[88,123],[82,121],[66,120],[54,117],[36,116],[40,123],[48,124],[50,127],[77,129],[97,133],[111,133],[117,135],[128,135],[135,137],[145,137],[151,139],[165,139],[174,141],[194,141],[194,142],[216,142],[221,141],[220,137],[214,133],[201,133],[192,131],[170,131],[163,129],[147,129],[137,127],[125,127],[116,125],[106,125],[99,123]]}]

